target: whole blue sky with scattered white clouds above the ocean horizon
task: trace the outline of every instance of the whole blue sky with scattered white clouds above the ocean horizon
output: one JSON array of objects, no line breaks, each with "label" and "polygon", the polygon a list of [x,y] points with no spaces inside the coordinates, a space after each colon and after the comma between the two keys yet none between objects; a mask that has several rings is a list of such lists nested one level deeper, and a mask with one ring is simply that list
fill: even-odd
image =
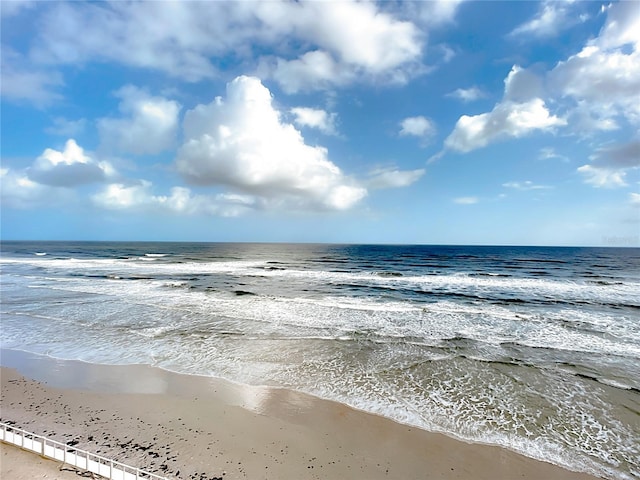
[{"label": "whole blue sky with scattered white clouds above the ocean horizon", "polygon": [[640,2],[1,3],[4,240],[640,246]]}]

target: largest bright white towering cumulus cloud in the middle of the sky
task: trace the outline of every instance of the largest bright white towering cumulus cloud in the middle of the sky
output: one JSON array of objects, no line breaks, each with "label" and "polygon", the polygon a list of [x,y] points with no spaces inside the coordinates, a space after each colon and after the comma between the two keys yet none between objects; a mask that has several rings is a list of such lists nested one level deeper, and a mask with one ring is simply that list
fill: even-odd
[{"label": "largest bright white towering cumulus cloud in the middle of the sky", "polygon": [[185,115],[176,166],[188,182],[226,185],[273,207],[343,210],[366,195],[325,148],[282,121],[260,80],[238,77],[226,93]]}]

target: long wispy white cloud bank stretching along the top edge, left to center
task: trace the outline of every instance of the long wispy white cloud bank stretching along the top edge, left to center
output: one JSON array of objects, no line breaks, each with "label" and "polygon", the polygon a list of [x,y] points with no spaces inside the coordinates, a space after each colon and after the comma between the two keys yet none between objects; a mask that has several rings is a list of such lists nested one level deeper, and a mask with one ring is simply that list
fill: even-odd
[{"label": "long wispy white cloud bank stretching along the top edge, left to center", "polygon": [[400,81],[423,46],[413,23],[355,0],[60,3],[40,25],[32,56],[42,64],[117,62],[187,81],[212,78],[216,59],[249,59],[260,45],[274,50],[263,73],[287,91]]}]

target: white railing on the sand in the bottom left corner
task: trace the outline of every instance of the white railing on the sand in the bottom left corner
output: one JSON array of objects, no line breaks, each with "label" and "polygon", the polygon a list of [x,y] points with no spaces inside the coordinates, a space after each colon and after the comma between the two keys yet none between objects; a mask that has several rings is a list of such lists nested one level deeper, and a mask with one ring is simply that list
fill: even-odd
[{"label": "white railing on the sand in the bottom left corner", "polygon": [[74,448],[50,438],[0,422],[0,441],[16,445],[43,457],[86,470],[109,480],[168,480],[154,473]]}]

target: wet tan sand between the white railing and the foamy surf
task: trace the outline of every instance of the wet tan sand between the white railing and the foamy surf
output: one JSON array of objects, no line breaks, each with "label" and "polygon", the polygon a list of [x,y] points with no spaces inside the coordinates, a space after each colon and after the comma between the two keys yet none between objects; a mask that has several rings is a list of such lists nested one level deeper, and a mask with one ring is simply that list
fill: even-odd
[{"label": "wet tan sand between the white railing and the foamy surf", "polygon": [[[4,350],[2,364],[13,355]],[[2,421],[168,478],[594,478],[288,390],[148,366],[19,363],[30,378],[1,369]],[[21,478],[5,477],[4,463],[3,479]]]}]

